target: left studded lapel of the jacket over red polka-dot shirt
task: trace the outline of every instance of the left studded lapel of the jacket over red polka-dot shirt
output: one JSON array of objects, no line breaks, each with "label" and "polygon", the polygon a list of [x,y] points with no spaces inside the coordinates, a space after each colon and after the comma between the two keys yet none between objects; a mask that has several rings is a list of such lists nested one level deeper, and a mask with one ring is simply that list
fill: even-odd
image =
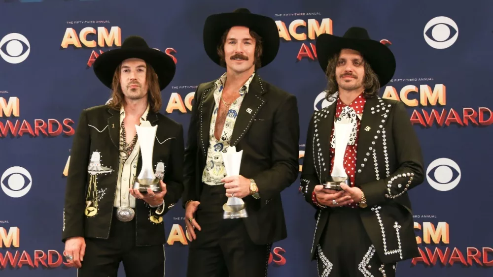
[{"label": "left studded lapel of the jacket over red polka-dot shirt", "polygon": [[319,179],[324,183],[330,176],[330,135],[334,125],[334,116],[336,112],[336,102],[332,105],[315,112],[313,149],[318,153],[315,158],[315,164],[318,164]]}]

